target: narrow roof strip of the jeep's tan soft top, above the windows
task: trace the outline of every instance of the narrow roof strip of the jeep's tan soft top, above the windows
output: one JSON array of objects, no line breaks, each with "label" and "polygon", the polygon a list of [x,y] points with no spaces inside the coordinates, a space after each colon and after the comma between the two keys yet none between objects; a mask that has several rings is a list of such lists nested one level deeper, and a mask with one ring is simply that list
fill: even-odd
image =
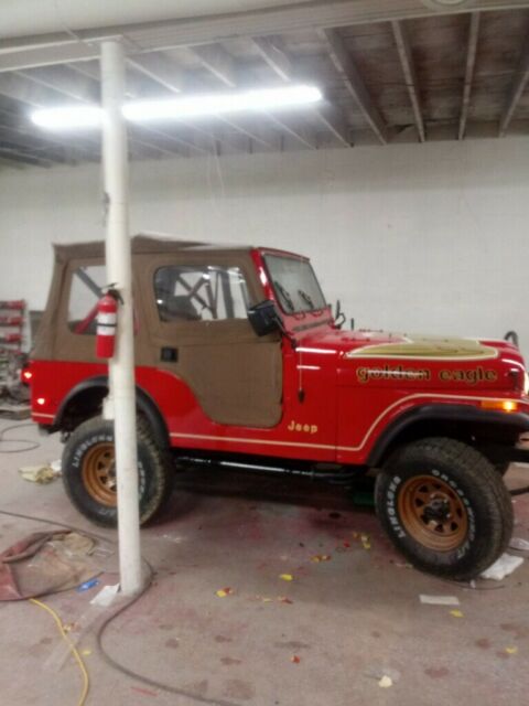
[{"label": "narrow roof strip of the jeep's tan soft top, above the windows", "polygon": [[[177,238],[160,233],[139,233],[131,237],[131,249],[136,255],[161,255],[164,253],[177,253],[180,250],[208,250],[208,252],[239,252],[248,253],[251,246],[240,245],[216,245],[213,243],[201,243],[199,240],[179,240]],[[57,263],[68,263],[72,259],[84,259],[89,257],[104,257],[104,240],[91,240],[88,243],[72,243],[67,245],[54,244],[55,259]]]}]

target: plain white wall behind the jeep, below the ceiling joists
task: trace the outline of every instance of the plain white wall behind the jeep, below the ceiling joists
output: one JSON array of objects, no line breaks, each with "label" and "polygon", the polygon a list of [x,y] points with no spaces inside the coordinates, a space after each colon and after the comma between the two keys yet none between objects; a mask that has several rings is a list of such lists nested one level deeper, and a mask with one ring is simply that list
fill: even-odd
[{"label": "plain white wall behind the jeep, below the ceiling joists", "polygon": [[[529,349],[529,141],[396,145],[132,167],[133,231],[309,254],[358,327]],[[0,172],[0,299],[42,308],[51,242],[102,237],[98,167]]]}]

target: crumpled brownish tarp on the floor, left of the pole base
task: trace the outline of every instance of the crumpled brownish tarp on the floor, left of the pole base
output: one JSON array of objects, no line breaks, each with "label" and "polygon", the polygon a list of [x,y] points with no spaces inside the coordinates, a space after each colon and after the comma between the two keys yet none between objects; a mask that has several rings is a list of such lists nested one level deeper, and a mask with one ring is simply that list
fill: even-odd
[{"label": "crumpled brownish tarp on the floor, left of the pole base", "polygon": [[0,554],[0,600],[75,588],[100,574],[96,542],[77,532],[34,532]]}]

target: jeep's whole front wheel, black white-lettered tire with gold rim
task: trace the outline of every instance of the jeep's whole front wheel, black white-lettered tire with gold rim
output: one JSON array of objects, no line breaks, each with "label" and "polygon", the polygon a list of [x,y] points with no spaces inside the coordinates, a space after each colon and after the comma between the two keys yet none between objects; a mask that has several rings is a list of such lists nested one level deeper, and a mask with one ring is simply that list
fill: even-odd
[{"label": "jeep's whole front wheel, black white-lettered tire with gold rim", "polygon": [[379,520],[417,568],[456,580],[487,569],[512,534],[510,495],[490,462],[454,439],[398,449],[377,477]]}]

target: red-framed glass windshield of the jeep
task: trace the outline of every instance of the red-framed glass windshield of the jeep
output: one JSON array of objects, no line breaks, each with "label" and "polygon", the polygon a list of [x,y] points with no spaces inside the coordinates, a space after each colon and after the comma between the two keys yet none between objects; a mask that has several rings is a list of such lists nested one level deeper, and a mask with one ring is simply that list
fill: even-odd
[{"label": "red-framed glass windshield of the jeep", "polygon": [[264,255],[264,263],[284,313],[325,309],[327,304],[310,263],[279,255]]}]

